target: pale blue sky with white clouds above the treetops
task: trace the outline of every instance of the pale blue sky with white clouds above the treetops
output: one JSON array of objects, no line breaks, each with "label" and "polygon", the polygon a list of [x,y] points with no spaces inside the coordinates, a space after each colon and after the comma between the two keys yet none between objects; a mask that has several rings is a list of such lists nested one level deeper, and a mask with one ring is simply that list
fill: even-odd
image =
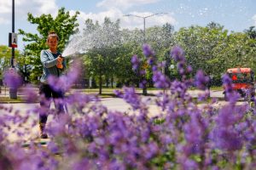
[{"label": "pale blue sky with white clouds above the treetops", "polygon": [[[79,29],[84,20],[98,20],[107,16],[111,20],[120,20],[121,28],[143,29],[143,19],[147,26],[162,26],[166,22],[181,27],[207,26],[214,21],[229,31],[244,31],[256,26],[256,0],[15,0],[15,32],[22,29],[37,33],[37,26],[27,21],[27,13],[56,15],[64,7],[74,14],[79,11]],[[164,14],[160,14],[164,13]],[[12,31],[12,0],[0,0],[0,45],[8,45],[9,32]],[[18,37],[18,48],[24,48],[24,42]]]}]

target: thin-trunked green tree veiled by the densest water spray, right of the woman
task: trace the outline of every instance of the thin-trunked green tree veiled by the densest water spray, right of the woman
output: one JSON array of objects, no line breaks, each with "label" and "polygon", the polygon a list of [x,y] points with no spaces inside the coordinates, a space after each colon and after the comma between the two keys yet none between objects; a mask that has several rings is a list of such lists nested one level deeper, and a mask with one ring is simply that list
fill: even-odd
[{"label": "thin-trunked green tree veiled by the densest water spray, right of the woman", "polygon": [[116,49],[121,44],[119,20],[112,22],[105,18],[102,25],[85,20],[81,44],[87,51],[84,55],[86,69],[90,76],[98,78],[99,94],[102,94],[103,78],[109,82],[116,70],[115,59],[119,55]]}]

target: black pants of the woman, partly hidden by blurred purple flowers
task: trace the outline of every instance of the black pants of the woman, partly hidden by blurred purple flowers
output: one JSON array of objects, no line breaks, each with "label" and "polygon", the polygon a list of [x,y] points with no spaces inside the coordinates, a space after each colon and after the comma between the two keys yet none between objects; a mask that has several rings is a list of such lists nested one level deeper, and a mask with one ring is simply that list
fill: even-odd
[{"label": "black pants of the woman, partly hidden by blurred purple flowers", "polygon": [[[43,99],[40,101],[40,112],[39,112],[39,123],[45,124],[47,122],[47,116],[50,107],[50,100],[54,99],[55,108],[57,113],[64,113],[64,106],[62,104],[62,99],[64,97],[63,92],[55,91],[48,84],[41,84],[39,87],[39,94],[43,95]],[[58,100],[59,99],[59,100]]]}]

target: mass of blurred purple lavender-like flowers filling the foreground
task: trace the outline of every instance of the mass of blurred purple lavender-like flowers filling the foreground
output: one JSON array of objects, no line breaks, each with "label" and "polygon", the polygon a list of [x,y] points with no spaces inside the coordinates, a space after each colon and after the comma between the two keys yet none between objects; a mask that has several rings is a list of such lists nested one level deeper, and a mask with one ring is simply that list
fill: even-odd
[{"label": "mass of blurred purple lavender-like flowers filling the foreground", "polygon": [[[94,95],[70,94],[59,101],[70,106],[67,114],[49,111],[54,119],[46,129],[50,140],[45,147],[37,143],[38,139],[26,138],[37,126],[38,112],[44,108],[21,113],[0,105],[1,169],[253,169],[255,113],[247,104],[237,105],[230,78],[223,77],[230,102],[215,108],[214,100],[207,101],[209,78],[203,71],[191,78],[192,68],[186,64],[182,48],[171,51],[181,76],[175,81],[161,72],[165,64],[155,63],[155,54],[148,45],[143,51],[153,69],[155,87],[165,88],[165,93],[151,100],[159,108],[157,114],[151,116],[148,101],[134,88],[115,92],[131,105],[130,112],[109,111]],[[136,71],[140,65],[137,55],[131,62]],[[51,77],[50,84],[70,90],[79,77],[79,66],[71,68],[61,79]],[[11,82],[9,77],[6,80]],[[203,104],[198,105],[189,95],[191,86],[205,92],[198,98]],[[36,96],[29,89],[25,94]],[[13,141],[12,135],[18,138]],[[30,143],[24,145],[26,140]]]}]

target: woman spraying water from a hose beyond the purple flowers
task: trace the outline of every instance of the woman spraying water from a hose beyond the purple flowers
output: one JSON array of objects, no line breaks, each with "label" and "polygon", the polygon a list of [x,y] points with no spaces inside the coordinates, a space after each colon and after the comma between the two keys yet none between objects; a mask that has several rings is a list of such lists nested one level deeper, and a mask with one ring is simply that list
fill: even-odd
[{"label": "woman spraying water from a hose beyond the purple flowers", "polygon": [[[48,135],[45,133],[45,124],[47,122],[47,116],[49,112],[50,99],[61,99],[64,97],[63,92],[55,90],[49,86],[47,79],[49,76],[61,77],[61,72],[66,69],[66,61],[61,57],[61,53],[57,50],[59,37],[55,31],[50,31],[47,37],[47,45],[49,49],[41,51],[40,59],[44,66],[43,75],[40,79],[39,94],[43,97],[40,101],[40,113],[39,113],[39,128],[40,138],[47,139]],[[55,108],[58,113],[64,112],[63,105],[60,102],[55,103]]]}]

